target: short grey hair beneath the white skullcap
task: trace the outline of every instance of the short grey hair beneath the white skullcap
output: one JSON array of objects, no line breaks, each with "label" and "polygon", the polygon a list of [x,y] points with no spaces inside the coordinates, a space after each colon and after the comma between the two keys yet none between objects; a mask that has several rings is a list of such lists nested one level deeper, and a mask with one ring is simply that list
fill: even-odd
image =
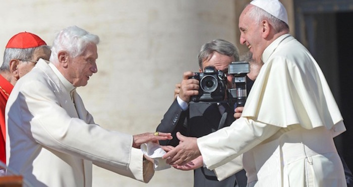
[{"label": "short grey hair beneath the white skullcap", "polygon": [[272,16],[259,7],[253,6],[253,8],[249,10],[249,16],[253,18],[257,23],[260,23],[264,19],[267,20],[277,33],[281,31],[289,32],[289,26],[285,22]]}]

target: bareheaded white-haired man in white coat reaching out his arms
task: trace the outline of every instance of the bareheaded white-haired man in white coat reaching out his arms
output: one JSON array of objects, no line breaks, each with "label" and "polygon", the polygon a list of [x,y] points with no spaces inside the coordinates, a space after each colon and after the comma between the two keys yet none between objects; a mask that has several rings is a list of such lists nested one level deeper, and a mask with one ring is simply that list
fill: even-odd
[{"label": "bareheaded white-haired man in white coat reaching out his arms", "polygon": [[7,164],[26,185],[91,186],[92,164],[143,182],[153,176],[150,158],[137,148],[170,134],[105,130],[75,91],[97,72],[98,42],[76,26],[60,31],[50,62],[40,59],[14,87],[6,106]]}]

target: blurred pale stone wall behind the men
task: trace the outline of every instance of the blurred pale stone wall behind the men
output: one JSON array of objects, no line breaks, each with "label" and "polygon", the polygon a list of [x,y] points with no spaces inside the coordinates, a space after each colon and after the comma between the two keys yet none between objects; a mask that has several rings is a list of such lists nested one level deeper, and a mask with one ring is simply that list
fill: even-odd
[{"label": "blurred pale stone wall behind the men", "polygon": [[[175,83],[183,72],[198,71],[196,56],[203,43],[221,38],[245,51],[239,46],[238,19],[248,2],[4,1],[0,51],[22,31],[39,35],[48,45],[57,31],[72,25],[98,35],[98,73],[86,87],[78,88],[86,108],[103,128],[128,134],[154,132],[173,101]],[[166,185],[193,186],[193,171],[156,171],[148,184],[98,167],[93,171],[93,186]]]}]

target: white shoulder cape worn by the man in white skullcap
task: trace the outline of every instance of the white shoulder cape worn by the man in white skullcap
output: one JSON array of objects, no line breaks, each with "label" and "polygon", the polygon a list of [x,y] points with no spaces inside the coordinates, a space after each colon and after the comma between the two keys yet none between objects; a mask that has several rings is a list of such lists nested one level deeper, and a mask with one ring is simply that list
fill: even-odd
[{"label": "white shoulder cape worn by the man in white skullcap", "polygon": [[[296,50],[293,50],[296,49]],[[262,55],[264,65],[254,82],[242,117],[287,128],[326,127],[345,131],[336,101],[309,51],[289,34],[273,41]],[[334,127],[334,126],[340,127]]]}]

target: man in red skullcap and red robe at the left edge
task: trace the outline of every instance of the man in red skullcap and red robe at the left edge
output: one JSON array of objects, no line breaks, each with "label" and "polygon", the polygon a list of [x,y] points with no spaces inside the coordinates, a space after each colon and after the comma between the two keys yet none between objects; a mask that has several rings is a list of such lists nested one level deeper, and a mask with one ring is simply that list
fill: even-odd
[{"label": "man in red skullcap and red robe at the left edge", "polygon": [[[3,65],[0,67],[0,161],[6,163],[5,106],[17,80],[35,66],[39,58],[48,60],[50,48],[39,36],[20,32],[6,45]],[[4,166],[4,165],[3,165]],[[0,176],[4,169],[0,167]]]}]

